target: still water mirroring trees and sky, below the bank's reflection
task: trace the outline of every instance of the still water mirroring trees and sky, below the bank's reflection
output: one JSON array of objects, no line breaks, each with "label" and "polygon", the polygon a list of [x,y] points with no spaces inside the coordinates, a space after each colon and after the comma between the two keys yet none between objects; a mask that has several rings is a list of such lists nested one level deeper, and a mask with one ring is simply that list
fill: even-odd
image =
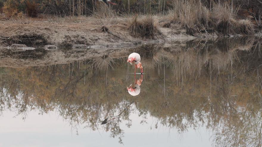
[{"label": "still water mirroring trees and sky, below the bank's reflection", "polygon": [[110,57],[2,67],[0,146],[261,146],[261,49],[244,38],[130,50],[144,75]]}]

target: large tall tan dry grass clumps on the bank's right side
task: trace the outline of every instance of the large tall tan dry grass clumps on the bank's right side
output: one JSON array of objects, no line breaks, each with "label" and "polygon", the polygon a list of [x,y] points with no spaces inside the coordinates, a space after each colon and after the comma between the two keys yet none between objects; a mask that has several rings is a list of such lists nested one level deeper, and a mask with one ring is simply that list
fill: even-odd
[{"label": "large tall tan dry grass clumps on the bank's right side", "polygon": [[168,22],[163,26],[171,26],[169,23],[180,23],[186,29],[187,34],[217,30],[224,34],[254,34],[254,26],[250,20],[237,20],[238,8],[232,8],[228,4],[215,4],[212,10],[208,10],[200,1],[173,0],[173,10],[169,11]]}]

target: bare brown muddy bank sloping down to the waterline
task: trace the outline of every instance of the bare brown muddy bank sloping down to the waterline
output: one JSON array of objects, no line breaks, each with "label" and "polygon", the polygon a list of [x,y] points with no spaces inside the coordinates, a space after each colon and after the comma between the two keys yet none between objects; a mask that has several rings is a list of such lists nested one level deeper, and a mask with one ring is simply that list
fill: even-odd
[{"label": "bare brown muddy bank sloping down to the waterline", "polygon": [[[154,38],[131,36],[123,24],[115,23],[107,27],[95,23],[95,20],[84,23],[68,22],[54,24],[48,21],[35,21],[29,24],[13,23],[10,20],[0,21],[0,44],[10,46],[14,43],[29,47],[38,45],[56,45],[72,47],[74,44],[97,45],[101,48],[133,48],[142,44],[163,43],[167,40],[188,41],[196,37],[185,34],[185,30],[160,28],[161,34]],[[94,22],[94,23],[92,23]]]}]

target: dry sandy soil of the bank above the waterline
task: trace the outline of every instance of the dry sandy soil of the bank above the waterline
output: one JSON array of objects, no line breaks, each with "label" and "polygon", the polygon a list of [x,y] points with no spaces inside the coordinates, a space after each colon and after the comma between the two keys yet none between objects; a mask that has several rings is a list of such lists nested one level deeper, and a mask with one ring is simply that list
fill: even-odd
[{"label": "dry sandy soil of the bank above the waterline", "polygon": [[[28,38],[32,36],[39,39],[32,42],[33,44],[45,43],[60,47],[86,44],[123,48],[141,43],[158,43],[165,40],[185,41],[195,38],[185,34],[184,30],[169,28],[160,28],[162,35],[156,36],[154,39],[130,36],[125,29],[127,22],[128,20],[124,18],[98,20],[92,17],[1,20],[0,39],[11,38],[1,42],[2,45],[10,45],[14,42],[28,43],[26,36]],[[102,31],[103,24],[108,29],[107,33]],[[23,40],[19,40],[21,36],[23,36]]]}]

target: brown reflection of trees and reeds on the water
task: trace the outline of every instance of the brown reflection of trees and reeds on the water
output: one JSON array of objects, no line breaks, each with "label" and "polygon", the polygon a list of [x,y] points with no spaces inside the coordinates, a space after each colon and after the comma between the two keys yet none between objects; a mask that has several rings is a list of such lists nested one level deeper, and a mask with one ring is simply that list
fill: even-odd
[{"label": "brown reflection of trees and reeds on the water", "polygon": [[50,67],[2,68],[0,109],[24,118],[33,109],[57,110],[73,127],[86,124],[93,130],[108,117],[103,129],[120,143],[120,122],[130,127],[130,113],[138,110],[141,123],[151,115],[157,118],[155,127],[161,124],[180,132],[205,124],[215,132],[219,146],[260,146],[261,47],[254,39],[235,41],[202,40],[144,51],[145,73],[150,74],[144,75],[135,99],[125,89],[133,78],[113,75],[126,71],[124,60],[103,56]]}]

